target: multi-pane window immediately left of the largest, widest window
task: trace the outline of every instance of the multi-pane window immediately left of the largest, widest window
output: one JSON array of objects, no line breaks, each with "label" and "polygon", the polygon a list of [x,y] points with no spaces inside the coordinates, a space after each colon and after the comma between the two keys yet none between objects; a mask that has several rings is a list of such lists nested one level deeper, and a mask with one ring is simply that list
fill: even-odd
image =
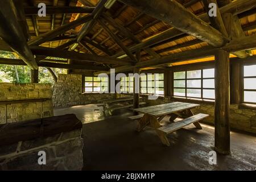
[{"label": "multi-pane window immediately left of the largest, widest window", "polygon": [[164,95],[164,74],[147,74],[141,76],[141,94]]}]

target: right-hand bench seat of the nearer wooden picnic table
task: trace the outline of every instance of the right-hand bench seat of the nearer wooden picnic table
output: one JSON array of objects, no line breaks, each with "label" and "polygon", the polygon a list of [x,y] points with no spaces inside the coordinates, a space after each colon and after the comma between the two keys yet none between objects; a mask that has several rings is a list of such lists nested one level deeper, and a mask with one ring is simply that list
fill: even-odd
[{"label": "right-hand bench seat of the nearer wooden picnic table", "polygon": [[[174,122],[174,123],[171,123],[171,124],[168,124],[166,126],[162,126],[162,127],[159,127],[158,130],[159,131],[162,131],[164,134],[170,134],[176,130],[179,130],[181,128],[183,128],[184,126],[187,126],[187,125],[190,125],[192,123],[195,124],[195,122],[198,122],[198,121],[201,121],[202,119],[204,118],[207,118],[209,117],[208,114],[196,114],[196,115],[193,115],[189,118],[185,118],[181,121],[178,121],[178,122]],[[199,127],[198,125],[195,125],[197,128]],[[200,126],[200,129],[201,129],[201,126]]]}]

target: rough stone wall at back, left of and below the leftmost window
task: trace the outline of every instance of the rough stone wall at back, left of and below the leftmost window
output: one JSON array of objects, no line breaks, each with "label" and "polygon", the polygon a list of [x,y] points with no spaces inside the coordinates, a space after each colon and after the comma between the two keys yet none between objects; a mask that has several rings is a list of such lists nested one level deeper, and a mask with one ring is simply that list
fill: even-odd
[{"label": "rough stone wall at back, left of and below the leftmost window", "polygon": [[53,107],[96,104],[115,98],[115,94],[82,93],[82,75],[58,75],[53,85]]}]

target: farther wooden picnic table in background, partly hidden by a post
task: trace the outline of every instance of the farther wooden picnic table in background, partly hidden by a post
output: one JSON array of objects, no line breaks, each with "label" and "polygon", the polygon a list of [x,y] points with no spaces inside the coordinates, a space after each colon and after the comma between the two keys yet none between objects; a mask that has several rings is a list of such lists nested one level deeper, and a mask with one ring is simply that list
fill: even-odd
[{"label": "farther wooden picnic table in background, partly hidden by a post", "polygon": [[[109,115],[112,115],[114,110],[133,107],[133,97],[123,97],[114,100],[105,100],[102,102],[103,104],[97,106],[102,106],[104,114],[108,113]],[[139,105],[143,104],[146,104],[146,102],[139,102]]]}]

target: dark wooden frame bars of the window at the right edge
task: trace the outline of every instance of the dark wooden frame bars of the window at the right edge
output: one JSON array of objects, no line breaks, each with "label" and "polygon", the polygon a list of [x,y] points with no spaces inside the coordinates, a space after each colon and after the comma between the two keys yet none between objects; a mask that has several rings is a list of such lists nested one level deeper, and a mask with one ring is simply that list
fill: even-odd
[{"label": "dark wooden frame bars of the window at the right edge", "polygon": [[256,92],[256,89],[245,89],[245,83],[244,83],[244,79],[245,78],[256,78],[256,76],[245,76],[244,73],[244,68],[245,66],[250,66],[250,65],[256,65],[256,60],[255,61],[243,61],[243,63],[241,64],[241,68],[240,68],[240,72],[241,72],[241,80],[240,80],[240,103],[243,104],[249,104],[249,105],[256,105],[256,102],[245,102],[245,92],[246,91],[251,91],[251,92]]}]

